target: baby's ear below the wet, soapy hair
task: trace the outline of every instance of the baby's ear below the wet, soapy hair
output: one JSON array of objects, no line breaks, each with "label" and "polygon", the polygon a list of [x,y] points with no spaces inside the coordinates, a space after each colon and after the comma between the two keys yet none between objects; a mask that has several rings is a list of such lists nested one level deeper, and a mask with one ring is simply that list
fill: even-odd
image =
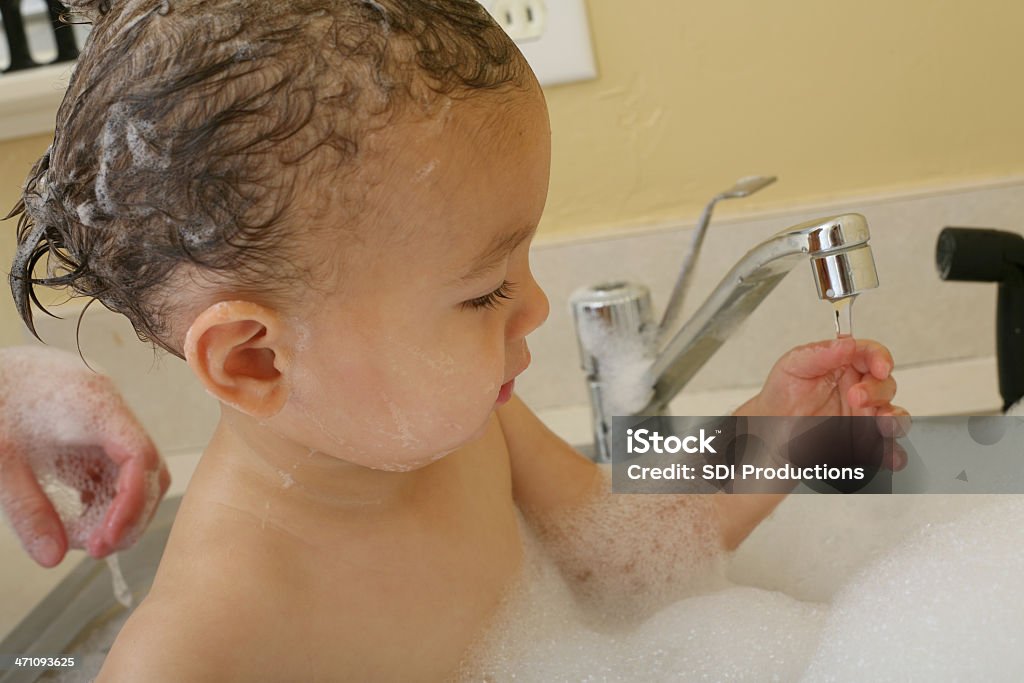
[{"label": "baby's ear below the wet, soapy hair", "polygon": [[221,402],[254,418],[269,418],[288,400],[286,338],[276,311],[250,301],[221,301],[188,328],[185,360]]}]

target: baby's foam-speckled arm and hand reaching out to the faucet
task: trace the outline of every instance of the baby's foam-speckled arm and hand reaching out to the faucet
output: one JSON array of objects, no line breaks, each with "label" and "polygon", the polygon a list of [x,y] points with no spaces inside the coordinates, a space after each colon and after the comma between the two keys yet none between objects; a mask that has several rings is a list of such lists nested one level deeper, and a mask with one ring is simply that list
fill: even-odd
[{"label": "baby's foam-speckled arm and hand reaching out to the faucet", "polygon": [[[890,402],[892,357],[876,342],[831,340],[794,349],[737,415],[902,416]],[[656,607],[714,578],[784,495],[611,495],[604,470],[513,398],[498,412],[516,503],[562,571],[602,611]],[[900,463],[894,463],[899,467]],[[646,605],[640,602],[645,598]]]}]

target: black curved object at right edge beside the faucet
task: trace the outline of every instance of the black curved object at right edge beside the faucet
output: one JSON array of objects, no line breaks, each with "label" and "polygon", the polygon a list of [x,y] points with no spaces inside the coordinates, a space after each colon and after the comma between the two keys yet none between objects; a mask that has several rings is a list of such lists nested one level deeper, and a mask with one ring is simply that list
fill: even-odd
[{"label": "black curved object at right edge beside the faucet", "polygon": [[1002,410],[1024,396],[1024,236],[984,227],[946,227],[935,262],[942,280],[997,283],[995,354]]}]

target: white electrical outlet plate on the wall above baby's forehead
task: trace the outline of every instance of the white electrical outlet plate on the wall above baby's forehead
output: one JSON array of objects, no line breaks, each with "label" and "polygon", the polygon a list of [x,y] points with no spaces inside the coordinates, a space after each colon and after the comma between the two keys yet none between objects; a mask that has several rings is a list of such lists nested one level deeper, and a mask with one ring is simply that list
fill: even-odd
[{"label": "white electrical outlet plate on the wall above baby's forehead", "polygon": [[584,0],[483,0],[541,85],[597,78]]}]

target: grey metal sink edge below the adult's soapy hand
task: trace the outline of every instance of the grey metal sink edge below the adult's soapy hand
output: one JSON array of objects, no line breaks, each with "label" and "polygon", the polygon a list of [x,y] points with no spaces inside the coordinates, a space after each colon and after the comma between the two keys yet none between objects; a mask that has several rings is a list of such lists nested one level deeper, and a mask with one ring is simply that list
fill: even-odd
[{"label": "grey metal sink edge below the adult's soapy hand", "polygon": [[[138,543],[118,554],[134,604],[153,585],[180,502],[180,496],[166,499]],[[60,680],[72,672],[91,680],[129,613],[114,598],[106,564],[85,558],[0,642],[8,655],[75,655],[75,668],[0,670],[0,683]]]}]

